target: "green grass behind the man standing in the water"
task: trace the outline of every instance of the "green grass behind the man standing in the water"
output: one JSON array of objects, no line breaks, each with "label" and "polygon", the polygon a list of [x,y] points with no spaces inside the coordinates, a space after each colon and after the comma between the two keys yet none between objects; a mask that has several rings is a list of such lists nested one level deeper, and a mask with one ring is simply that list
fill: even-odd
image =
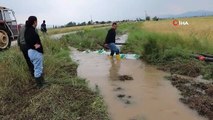
[{"label": "green grass behind the man standing in the water", "polygon": [[[116,30],[117,35],[126,34],[129,27],[130,23],[118,24],[118,29]],[[100,29],[87,28],[76,34],[65,35],[61,40],[66,41],[70,46],[78,48],[80,51],[103,49],[108,30],[108,27]]]}]

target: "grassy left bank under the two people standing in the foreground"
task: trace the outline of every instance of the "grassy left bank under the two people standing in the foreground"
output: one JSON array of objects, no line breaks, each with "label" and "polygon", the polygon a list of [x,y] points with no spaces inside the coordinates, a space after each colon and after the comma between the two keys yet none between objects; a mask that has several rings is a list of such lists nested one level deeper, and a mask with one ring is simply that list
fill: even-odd
[{"label": "grassy left bank under the two people standing in the foreground", "polygon": [[103,99],[76,76],[67,43],[42,39],[50,86],[41,90],[33,89],[34,80],[18,47],[0,53],[0,119],[108,120]]}]

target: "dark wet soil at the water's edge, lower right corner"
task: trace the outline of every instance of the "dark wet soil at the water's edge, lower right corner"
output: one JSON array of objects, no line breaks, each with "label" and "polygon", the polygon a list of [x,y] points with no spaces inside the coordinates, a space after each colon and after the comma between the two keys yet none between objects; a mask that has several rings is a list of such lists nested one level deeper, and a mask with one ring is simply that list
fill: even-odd
[{"label": "dark wet soil at the water's edge, lower right corner", "polygon": [[213,82],[198,82],[177,75],[169,79],[172,85],[181,91],[180,101],[198,111],[200,115],[213,120]]}]

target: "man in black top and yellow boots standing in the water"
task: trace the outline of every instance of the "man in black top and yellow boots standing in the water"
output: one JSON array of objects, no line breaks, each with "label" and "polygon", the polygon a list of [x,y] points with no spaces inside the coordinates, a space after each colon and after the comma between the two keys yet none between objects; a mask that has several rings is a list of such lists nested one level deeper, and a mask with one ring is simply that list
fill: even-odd
[{"label": "man in black top and yellow boots standing in the water", "polygon": [[105,39],[105,45],[109,47],[111,50],[110,58],[113,58],[114,53],[116,53],[116,59],[120,60],[120,51],[115,46],[115,37],[116,37],[116,29],[117,29],[117,23],[112,23],[112,28],[108,31],[106,39]]}]

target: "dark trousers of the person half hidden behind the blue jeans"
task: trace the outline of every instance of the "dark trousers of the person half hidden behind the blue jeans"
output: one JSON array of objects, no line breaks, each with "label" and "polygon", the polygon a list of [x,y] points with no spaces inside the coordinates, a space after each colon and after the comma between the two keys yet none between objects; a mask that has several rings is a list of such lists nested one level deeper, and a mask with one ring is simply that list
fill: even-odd
[{"label": "dark trousers of the person half hidden behind the blue jeans", "polygon": [[28,56],[28,50],[29,50],[28,47],[26,45],[20,45],[20,49],[21,49],[21,51],[22,51],[22,53],[24,55],[24,58],[25,58],[25,60],[27,62],[27,66],[28,66],[28,68],[30,70],[31,75],[34,75],[34,66],[33,66],[33,64],[30,61],[30,58]]}]

